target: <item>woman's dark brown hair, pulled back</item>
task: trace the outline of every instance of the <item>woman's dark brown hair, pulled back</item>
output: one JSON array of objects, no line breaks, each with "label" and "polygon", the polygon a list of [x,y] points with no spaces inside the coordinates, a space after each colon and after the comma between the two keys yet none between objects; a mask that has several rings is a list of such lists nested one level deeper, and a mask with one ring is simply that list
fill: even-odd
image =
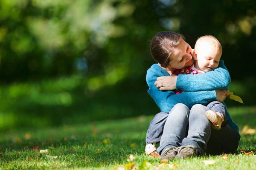
[{"label": "woman's dark brown hair, pulled back", "polygon": [[150,51],[153,59],[162,67],[167,68],[171,61],[173,49],[177,47],[180,40],[185,38],[181,34],[172,31],[158,32],[151,40]]}]

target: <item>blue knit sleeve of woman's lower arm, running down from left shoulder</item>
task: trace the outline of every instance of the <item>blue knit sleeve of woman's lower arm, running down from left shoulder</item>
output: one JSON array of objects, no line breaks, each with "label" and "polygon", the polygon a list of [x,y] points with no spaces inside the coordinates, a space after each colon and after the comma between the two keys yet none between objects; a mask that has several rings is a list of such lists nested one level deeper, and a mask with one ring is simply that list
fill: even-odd
[{"label": "blue knit sleeve of woman's lower arm, running down from left shoulder", "polygon": [[169,113],[169,111],[177,103],[183,103],[191,108],[197,103],[205,105],[213,100],[216,100],[215,91],[192,91],[181,94],[175,94],[174,91],[160,91],[154,85],[157,77],[160,76],[168,76],[168,73],[160,68],[160,66],[157,64],[154,64],[147,71],[146,81],[149,87],[148,94],[150,94],[157,106],[163,112]]}]

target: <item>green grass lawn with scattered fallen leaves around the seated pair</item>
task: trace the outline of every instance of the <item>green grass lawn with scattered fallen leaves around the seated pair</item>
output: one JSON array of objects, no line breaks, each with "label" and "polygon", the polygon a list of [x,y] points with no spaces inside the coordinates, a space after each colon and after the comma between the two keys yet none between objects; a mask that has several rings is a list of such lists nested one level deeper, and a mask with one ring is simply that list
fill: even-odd
[{"label": "green grass lawn with scattered fallen leaves around the seated pair", "polygon": [[[256,108],[230,108],[233,118],[239,123],[255,127]],[[246,114],[244,114],[246,113]],[[145,156],[144,138],[152,116],[138,116],[81,125],[28,130],[12,130],[1,134],[0,169],[156,169],[159,159]],[[41,156],[39,150],[48,149]],[[256,156],[240,153],[240,150],[256,153],[256,134],[242,135],[236,154],[201,156],[192,159],[174,160],[161,165],[162,169],[256,169]],[[128,162],[129,154],[135,159]],[[52,158],[51,156],[58,156]],[[204,160],[215,160],[205,165]],[[145,162],[151,165],[146,166]]]}]

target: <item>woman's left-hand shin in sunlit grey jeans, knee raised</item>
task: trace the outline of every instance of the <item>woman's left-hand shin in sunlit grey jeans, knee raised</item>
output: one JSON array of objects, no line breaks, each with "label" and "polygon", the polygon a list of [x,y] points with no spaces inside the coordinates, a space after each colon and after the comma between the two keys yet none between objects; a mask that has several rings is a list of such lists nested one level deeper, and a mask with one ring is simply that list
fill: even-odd
[{"label": "woman's left-hand shin in sunlit grey jeans, knee raised", "polygon": [[186,136],[189,122],[189,108],[184,104],[176,104],[166,119],[160,146],[157,148],[159,154],[172,146],[178,147]]}]

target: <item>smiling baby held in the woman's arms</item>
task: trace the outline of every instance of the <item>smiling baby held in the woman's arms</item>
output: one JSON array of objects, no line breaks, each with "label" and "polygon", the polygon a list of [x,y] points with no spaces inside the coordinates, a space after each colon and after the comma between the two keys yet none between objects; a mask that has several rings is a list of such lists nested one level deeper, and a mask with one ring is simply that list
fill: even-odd
[{"label": "smiling baby held in the woman's arms", "polygon": [[[222,47],[220,42],[214,36],[206,35],[198,38],[195,43],[195,49],[192,50],[191,53],[194,57],[194,64],[188,68],[176,70],[173,74],[201,74],[217,68],[222,55]],[[182,91],[176,90],[175,93],[179,94],[182,93]],[[205,114],[210,120],[212,127],[216,130],[220,130],[222,122],[224,122],[223,126],[224,124],[226,124],[225,106],[221,102],[214,101],[210,102],[207,107],[210,110],[207,111]],[[163,123],[159,123],[155,127],[152,127],[152,125],[150,125],[150,127],[148,128],[147,136],[153,135],[157,136],[158,138],[159,136],[161,136],[161,134],[163,133],[164,122],[167,118],[167,114],[162,115]],[[151,122],[154,122],[154,118]],[[159,134],[156,134],[156,132],[159,132]],[[154,142],[156,141],[154,140],[154,137],[152,138],[152,136],[151,140]],[[157,153],[155,152],[157,149],[155,147],[156,143],[149,143],[147,139],[146,142],[147,144],[145,147],[145,153],[148,155],[157,155]]]}]

